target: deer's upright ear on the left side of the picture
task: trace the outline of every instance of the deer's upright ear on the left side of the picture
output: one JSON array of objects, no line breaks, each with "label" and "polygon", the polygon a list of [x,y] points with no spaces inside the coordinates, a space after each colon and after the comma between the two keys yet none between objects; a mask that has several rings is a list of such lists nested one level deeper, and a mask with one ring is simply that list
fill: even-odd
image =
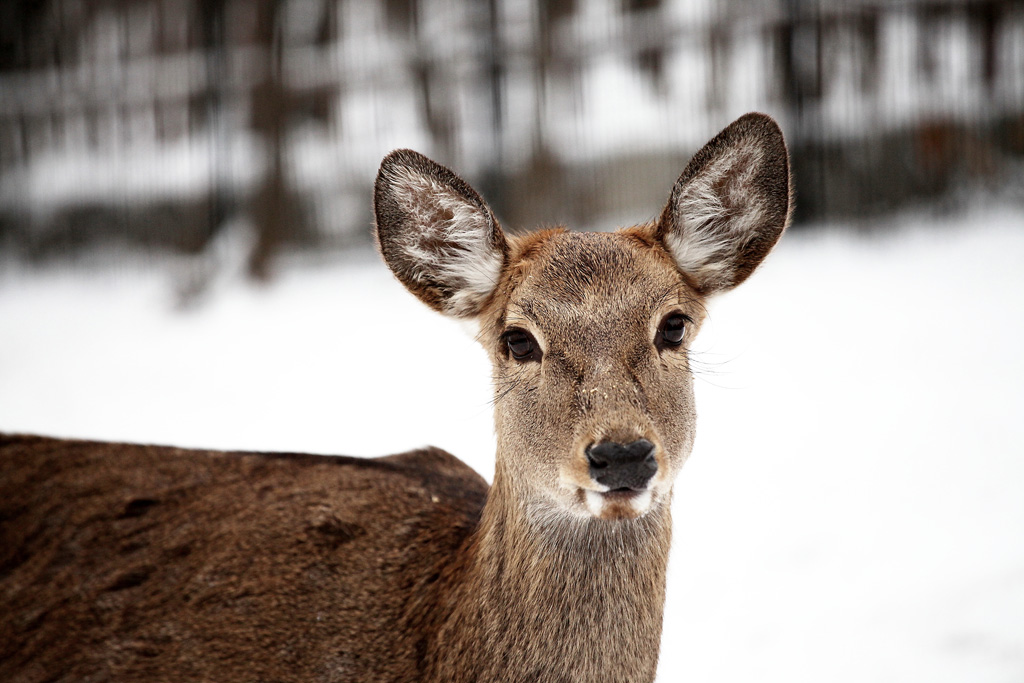
[{"label": "deer's upright ear on the left side of the picture", "polygon": [[476,190],[423,155],[396,150],[377,173],[374,212],[381,254],[409,291],[442,313],[480,312],[508,243]]}]

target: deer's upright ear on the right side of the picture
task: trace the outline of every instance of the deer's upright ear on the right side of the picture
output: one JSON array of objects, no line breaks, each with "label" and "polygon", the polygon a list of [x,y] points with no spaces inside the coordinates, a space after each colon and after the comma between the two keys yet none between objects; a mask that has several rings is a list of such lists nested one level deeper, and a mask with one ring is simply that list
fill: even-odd
[{"label": "deer's upright ear on the right side of the picture", "polygon": [[790,221],[790,161],[771,117],[748,114],[698,152],[672,188],[657,237],[703,294],[746,280]]}]

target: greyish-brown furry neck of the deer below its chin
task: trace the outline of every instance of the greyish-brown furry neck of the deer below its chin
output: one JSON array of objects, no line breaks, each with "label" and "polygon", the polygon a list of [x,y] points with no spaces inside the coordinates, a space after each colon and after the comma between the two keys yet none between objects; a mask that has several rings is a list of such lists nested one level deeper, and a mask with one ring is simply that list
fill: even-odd
[{"label": "greyish-brown furry neck of the deer below its chin", "polygon": [[653,680],[670,541],[668,506],[570,518],[517,502],[496,473],[452,575],[437,680]]}]

